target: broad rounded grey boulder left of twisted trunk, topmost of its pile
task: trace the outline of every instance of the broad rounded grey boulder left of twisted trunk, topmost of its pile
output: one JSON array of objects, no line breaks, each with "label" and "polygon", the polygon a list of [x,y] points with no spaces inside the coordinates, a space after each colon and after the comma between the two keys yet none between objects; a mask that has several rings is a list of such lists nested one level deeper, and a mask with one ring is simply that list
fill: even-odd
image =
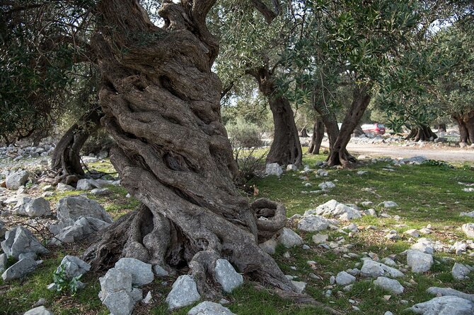
[{"label": "broad rounded grey boulder left of twisted trunk, topmost of its pile", "polygon": [[81,217],[96,218],[112,223],[112,217],[97,201],[83,196],[69,196],[59,200],[56,207],[57,218],[61,222],[73,225]]}]

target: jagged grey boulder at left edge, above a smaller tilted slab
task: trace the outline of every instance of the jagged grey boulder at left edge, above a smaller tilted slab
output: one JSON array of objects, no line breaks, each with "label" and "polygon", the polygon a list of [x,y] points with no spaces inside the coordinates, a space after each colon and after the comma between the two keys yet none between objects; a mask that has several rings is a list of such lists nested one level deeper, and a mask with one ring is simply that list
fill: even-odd
[{"label": "jagged grey boulder at left edge, above a smaller tilted slab", "polygon": [[20,254],[47,254],[49,251],[37,241],[36,237],[24,227],[13,227],[5,234],[1,249],[8,256],[18,259]]}]

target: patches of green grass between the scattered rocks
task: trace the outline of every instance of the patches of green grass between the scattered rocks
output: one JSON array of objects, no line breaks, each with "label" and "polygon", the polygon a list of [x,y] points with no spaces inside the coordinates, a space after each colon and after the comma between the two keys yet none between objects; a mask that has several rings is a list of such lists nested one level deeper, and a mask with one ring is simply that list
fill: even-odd
[{"label": "patches of green grass between the scattered rocks", "polygon": [[[313,165],[318,160],[324,160],[325,156],[306,156],[304,163]],[[357,170],[328,170],[328,177],[317,178],[314,172],[308,173],[306,179],[300,179],[299,172],[284,173],[281,179],[267,177],[256,179],[250,184],[258,187],[258,197],[267,197],[280,201],[287,206],[288,216],[296,213],[303,214],[305,210],[316,208],[316,206],[336,199],[343,203],[359,203],[362,201],[373,201],[378,205],[382,201],[395,201],[399,207],[393,210],[384,210],[390,215],[399,215],[400,219],[364,217],[355,221],[360,227],[376,225],[378,230],[362,230],[349,238],[337,231],[330,232],[331,239],[344,237],[345,241],[354,244],[352,252],[361,254],[363,252],[374,252],[383,258],[390,254],[398,254],[407,249],[410,243],[407,238],[397,241],[388,241],[384,238],[386,232],[381,229],[395,229],[403,232],[411,228],[421,228],[428,224],[432,225],[434,231],[429,235],[433,239],[439,239],[449,244],[455,240],[466,239],[458,230],[463,223],[469,222],[466,217],[459,217],[460,212],[469,212],[473,209],[474,193],[462,191],[463,186],[458,182],[474,183],[474,172],[467,165],[456,165],[449,168],[444,166],[430,165],[407,165],[394,167],[394,171],[384,170],[388,166],[386,162],[367,164]],[[111,172],[108,163],[92,165],[93,168],[104,172]],[[366,170],[364,175],[357,175],[358,170]],[[333,181],[336,187],[328,194],[302,194],[301,191],[313,191],[318,189],[318,184],[323,181]],[[309,182],[311,187],[305,187]],[[91,196],[105,206],[105,209],[114,217],[127,213],[138,205],[134,198],[127,198],[127,191],[122,187],[110,187],[112,194],[109,196]],[[85,191],[74,191],[57,194],[50,197],[50,201],[56,203],[59,198],[67,194],[84,194]],[[382,209],[375,207],[379,212]],[[394,225],[406,225],[395,227]],[[311,233],[300,233],[306,244],[311,249],[304,250],[300,247],[284,249],[277,248],[274,255],[284,273],[293,275],[295,280],[308,283],[306,292],[318,301],[333,307],[344,314],[383,314],[392,311],[393,314],[409,314],[404,309],[417,302],[424,302],[432,296],[425,290],[430,286],[453,287],[463,292],[474,293],[474,280],[456,281],[451,276],[451,268],[454,261],[473,263],[473,258],[468,256],[454,256],[451,254],[435,254],[436,260],[432,270],[424,275],[406,273],[400,280],[405,287],[402,295],[388,297],[374,287],[371,280],[357,278],[357,282],[349,292],[342,291],[337,285],[330,287],[329,278],[340,271],[354,268],[360,262],[358,258],[345,258],[342,254],[336,254],[332,250],[322,249],[311,242]],[[71,296],[67,293],[51,292],[46,285],[52,283],[52,274],[59,265],[65,254],[80,254],[87,244],[74,244],[52,249],[52,253],[43,257],[44,263],[37,270],[23,280],[12,283],[2,283],[0,280],[0,314],[22,314],[33,307],[40,299],[46,299],[45,307],[51,309],[54,314],[107,314],[108,311],[100,304],[97,295],[100,290],[98,276],[88,274],[83,279],[86,289]],[[289,252],[289,258],[285,258],[285,252]],[[288,256],[287,256],[288,257]],[[448,258],[448,259],[443,259]],[[403,258],[401,258],[403,261]],[[307,261],[316,261],[316,266],[311,268]],[[318,275],[322,280],[311,278],[310,274]],[[471,277],[474,279],[474,276]],[[154,302],[149,305],[137,304],[134,314],[168,314],[164,299],[173,278],[156,278],[154,283],[144,288],[153,290]],[[410,286],[407,284],[411,280]],[[325,297],[326,290],[333,290],[333,295]],[[315,307],[299,307],[287,300],[280,299],[272,292],[256,290],[252,285],[246,284],[231,295],[227,295],[231,303],[229,309],[236,314],[327,314],[323,309]],[[354,310],[357,306],[360,311]],[[175,311],[173,314],[187,314],[190,307]]]}]

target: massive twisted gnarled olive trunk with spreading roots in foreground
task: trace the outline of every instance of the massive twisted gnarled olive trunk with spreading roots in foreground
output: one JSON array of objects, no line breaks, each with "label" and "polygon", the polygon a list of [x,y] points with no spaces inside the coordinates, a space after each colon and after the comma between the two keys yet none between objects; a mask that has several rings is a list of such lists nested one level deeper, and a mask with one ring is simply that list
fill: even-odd
[{"label": "massive twisted gnarled olive trunk with spreading roots in foreground", "polygon": [[[117,142],[110,160],[143,206],[117,220],[84,257],[108,268],[122,256],[189,271],[204,297],[219,295],[218,258],[250,278],[294,292],[258,242],[285,222],[284,207],[252,205],[233,185],[237,166],[221,124],[218,43],[205,25],[214,1],[164,1],[157,28],[138,1],[104,0],[93,46],[103,73],[103,124]],[[265,217],[268,220],[258,220]]]}]

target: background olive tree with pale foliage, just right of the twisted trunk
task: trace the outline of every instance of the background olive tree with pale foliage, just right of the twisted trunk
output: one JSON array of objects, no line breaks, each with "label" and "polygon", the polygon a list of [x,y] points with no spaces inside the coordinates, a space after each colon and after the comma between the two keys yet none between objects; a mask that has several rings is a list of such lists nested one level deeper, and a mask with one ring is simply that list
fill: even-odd
[{"label": "background olive tree with pale foliage, just right of the twisted trunk", "polygon": [[[301,165],[302,150],[294,112],[279,89],[279,53],[291,32],[289,8],[282,1],[222,1],[213,20],[221,23],[222,54],[217,71],[224,81],[251,76],[267,98],[274,121],[274,137],[267,163]],[[222,16],[225,13],[225,16]],[[236,82],[236,85],[238,83]]]}]

